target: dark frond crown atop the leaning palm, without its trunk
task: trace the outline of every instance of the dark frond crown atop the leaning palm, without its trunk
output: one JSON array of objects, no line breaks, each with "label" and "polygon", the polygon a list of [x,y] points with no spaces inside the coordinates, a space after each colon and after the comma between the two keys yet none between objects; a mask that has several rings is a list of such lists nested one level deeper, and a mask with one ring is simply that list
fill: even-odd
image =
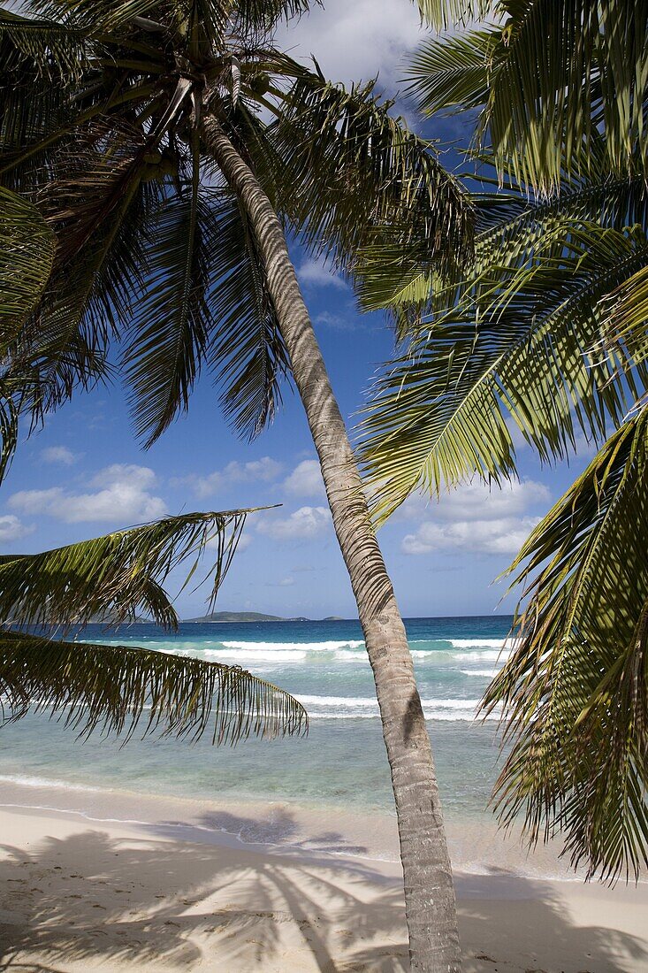
[{"label": "dark frond crown atop the leaning palm, without its trunk", "polygon": [[37,202],[56,238],[43,300],[9,342],[8,375],[36,366],[23,409],[38,416],[105,378],[119,339],[147,444],[187,408],[201,368],[243,434],[274,414],[286,352],[205,118],[286,228],[342,270],[385,234],[426,239],[435,266],[465,258],[470,206],[429,143],[373,84],[344,90],[273,48],[276,20],[305,6],[36,3],[0,14],[12,80],[0,179]]}]

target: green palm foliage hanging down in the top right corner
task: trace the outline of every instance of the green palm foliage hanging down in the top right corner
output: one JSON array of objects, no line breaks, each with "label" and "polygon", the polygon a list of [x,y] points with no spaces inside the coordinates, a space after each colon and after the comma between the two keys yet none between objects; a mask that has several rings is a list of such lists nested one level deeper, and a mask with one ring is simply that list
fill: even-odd
[{"label": "green palm foliage hanging down in the top right corner", "polygon": [[[437,14],[441,6],[432,4]],[[450,3],[450,17],[461,7]],[[587,172],[588,150],[601,132],[610,171],[645,177],[642,0],[498,2],[494,12],[505,20],[501,26],[430,40],[415,55],[414,89],[426,110],[455,107],[459,98],[481,108],[478,143],[489,141],[500,172],[540,192],[553,192],[565,171]]]}]

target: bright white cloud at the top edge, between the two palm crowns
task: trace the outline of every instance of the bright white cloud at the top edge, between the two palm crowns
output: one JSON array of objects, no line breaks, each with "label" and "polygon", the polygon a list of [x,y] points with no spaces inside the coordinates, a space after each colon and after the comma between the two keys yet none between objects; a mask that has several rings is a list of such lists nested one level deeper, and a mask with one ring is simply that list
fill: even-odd
[{"label": "bright white cloud at the top edge, between the two palm crowns", "polygon": [[408,0],[327,0],[277,31],[277,45],[293,57],[312,53],[332,81],[369,81],[378,71],[394,86],[405,73],[403,55],[422,37]]}]

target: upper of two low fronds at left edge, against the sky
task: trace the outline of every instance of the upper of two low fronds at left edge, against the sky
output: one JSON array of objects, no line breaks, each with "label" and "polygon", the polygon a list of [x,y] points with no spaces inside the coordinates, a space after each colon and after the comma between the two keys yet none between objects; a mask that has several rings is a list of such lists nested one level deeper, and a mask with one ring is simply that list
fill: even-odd
[{"label": "upper of two low fronds at left edge, against the sky", "polygon": [[14,626],[65,628],[95,617],[120,622],[144,612],[158,625],[176,629],[177,614],[161,583],[192,558],[187,584],[206,553],[213,602],[250,512],[164,517],[41,554],[4,556],[0,619]]}]

